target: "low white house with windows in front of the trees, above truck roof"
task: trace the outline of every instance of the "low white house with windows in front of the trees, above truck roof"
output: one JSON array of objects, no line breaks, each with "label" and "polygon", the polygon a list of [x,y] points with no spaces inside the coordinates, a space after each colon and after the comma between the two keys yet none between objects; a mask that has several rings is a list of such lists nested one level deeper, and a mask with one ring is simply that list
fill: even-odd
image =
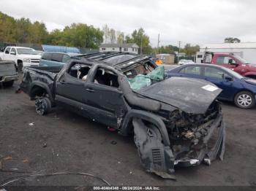
[{"label": "low white house with windows in front of the trees, above truck roof", "polygon": [[130,52],[138,54],[139,47],[137,44],[127,43],[127,44],[101,44],[99,46],[99,52]]}]

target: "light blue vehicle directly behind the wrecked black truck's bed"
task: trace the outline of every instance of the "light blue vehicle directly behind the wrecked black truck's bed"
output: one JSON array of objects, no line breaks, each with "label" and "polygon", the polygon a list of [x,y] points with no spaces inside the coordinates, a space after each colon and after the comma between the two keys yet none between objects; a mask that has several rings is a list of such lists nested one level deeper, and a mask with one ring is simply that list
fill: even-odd
[{"label": "light blue vehicle directly behind the wrecked black truck's bed", "polygon": [[44,52],[39,61],[39,66],[64,66],[71,59],[75,59],[80,54],[65,52]]}]

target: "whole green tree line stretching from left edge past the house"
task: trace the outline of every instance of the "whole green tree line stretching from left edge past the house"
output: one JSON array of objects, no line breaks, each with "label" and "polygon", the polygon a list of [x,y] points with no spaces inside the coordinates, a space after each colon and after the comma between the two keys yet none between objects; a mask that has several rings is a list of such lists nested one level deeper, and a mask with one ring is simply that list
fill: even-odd
[{"label": "whole green tree line stretching from left edge past the house", "polygon": [[[100,29],[85,23],[72,23],[63,30],[48,31],[45,23],[31,22],[24,17],[15,19],[2,12],[0,12],[0,42],[53,44],[92,49],[97,49],[102,43],[135,43],[146,54],[174,53],[179,50],[173,45],[161,46],[159,49],[151,47],[149,36],[143,28],[135,29],[131,34],[124,35],[124,32],[109,28],[108,25]],[[186,44],[180,50],[187,55],[194,55],[199,51],[199,46]]]}]

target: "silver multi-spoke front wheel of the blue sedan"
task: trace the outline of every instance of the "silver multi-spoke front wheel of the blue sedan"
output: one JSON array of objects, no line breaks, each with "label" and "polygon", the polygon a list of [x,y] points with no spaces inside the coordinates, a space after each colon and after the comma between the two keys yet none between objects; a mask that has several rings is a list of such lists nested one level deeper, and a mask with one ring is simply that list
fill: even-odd
[{"label": "silver multi-spoke front wheel of the blue sedan", "polygon": [[255,96],[248,91],[241,91],[236,94],[234,102],[242,109],[250,109],[255,106]]}]

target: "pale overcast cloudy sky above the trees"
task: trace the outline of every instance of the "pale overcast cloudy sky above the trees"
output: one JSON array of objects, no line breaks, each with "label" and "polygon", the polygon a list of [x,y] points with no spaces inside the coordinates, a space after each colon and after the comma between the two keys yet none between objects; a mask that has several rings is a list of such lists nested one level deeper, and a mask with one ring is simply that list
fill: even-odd
[{"label": "pale overcast cloudy sky above the trees", "polygon": [[151,45],[205,44],[233,36],[256,42],[255,0],[0,0],[0,11],[46,24],[49,31],[71,23],[108,24],[131,34],[144,28]]}]

